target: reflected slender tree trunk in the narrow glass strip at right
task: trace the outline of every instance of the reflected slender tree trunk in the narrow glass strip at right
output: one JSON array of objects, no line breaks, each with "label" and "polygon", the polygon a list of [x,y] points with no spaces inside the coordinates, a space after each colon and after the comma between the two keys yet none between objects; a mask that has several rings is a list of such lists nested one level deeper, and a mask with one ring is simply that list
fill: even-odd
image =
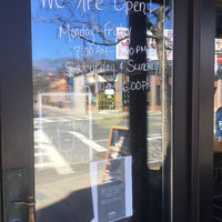
[{"label": "reflected slender tree trunk in the narrow glass strip at right", "polygon": [[165,39],[164,39],[164,23],[165,17],[170,17],[171,8],[165,9],[162,4],[152,14],[157,18],[157,23],[151,22],[148,18],[148,28],[151,31],[151,38],[155,39],[157,53],[159,59],[159,74],[161,85],[161,105],[162,105],[162,151],[167,155],[167,149],[170,148],[171,141],[171,110],[170,110],[170,65],[167,57]]}]

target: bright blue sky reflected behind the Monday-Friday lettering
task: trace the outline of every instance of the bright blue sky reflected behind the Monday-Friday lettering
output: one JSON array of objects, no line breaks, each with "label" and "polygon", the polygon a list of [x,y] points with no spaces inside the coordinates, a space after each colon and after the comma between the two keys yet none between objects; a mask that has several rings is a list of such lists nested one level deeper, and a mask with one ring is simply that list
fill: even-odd
[{"label": "bright blue sky reflected behind the Monday-Friday lettering", "polygon": [[[82,59],[83,40],[78,36],[78,32],[89,33],[93,29],[99,31],[108,39],[103,40],[100,34],[91,32],[87,36],[91,41],[101,44],[93,44],[85,41],[85,57],[95,59],[115,59],[115,46],[105,47],[102,43],[115,41],[115,28],[127,27],[125,11],[117,11],[112,4],[105,3],[103,10],[83,11],[82,7],[78,8],[81,0],[72,0],[60,9],[60,6],[65,1],[53,0],[32,0],[32,59],[33,63],[42,59],[59,59],[59,58],[75,58]],[[51,4],[52,9],[50,9]],[[43,7],[44,6],[44,7]],[[95,28],[97,24],[97,28]],[[63,27],[63,28],[62,28]],[[70,38],[67,31],[72,28],[74,37]]]}]

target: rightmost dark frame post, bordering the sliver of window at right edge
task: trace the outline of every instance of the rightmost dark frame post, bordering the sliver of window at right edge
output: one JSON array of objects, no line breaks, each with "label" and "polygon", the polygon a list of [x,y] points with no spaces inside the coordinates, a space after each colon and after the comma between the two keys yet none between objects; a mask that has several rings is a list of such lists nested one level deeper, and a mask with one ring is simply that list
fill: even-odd
[{"label": "rightmost dark frame post, bordering the sliver of window at right edge", "polygon": [[192,221],[212,221],[215,1],[193,2]]}]

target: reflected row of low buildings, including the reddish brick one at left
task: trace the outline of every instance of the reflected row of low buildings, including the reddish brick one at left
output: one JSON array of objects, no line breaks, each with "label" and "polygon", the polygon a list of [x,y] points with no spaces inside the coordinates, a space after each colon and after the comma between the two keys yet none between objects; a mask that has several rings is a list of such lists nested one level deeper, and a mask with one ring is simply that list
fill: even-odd
[{"label": "reflected row of low buildings, including the reddish brick one at left", "polygon": [[[137,84],[129,82],[127,70],[127,61],[109,61],[101,60],[91,67],[89,70],[67,69],[59,75],[50,77],[49,92],[50,93],[91,93],[91,105],[87,95],[71,99],[63,95],[51,95],[47,103],[60,108],[73,108],[79,104],[81,112],[87,110],[129,110],[129,93],[130,90],[137,90]],[[91,69],[91,70],[90,70]],[[149,71],[147,82],[142,84],[143,90],[148,91],[148,109],[155,111],[161,109],[161,90],[159,64],[157,61],[149,62]],[[67,77],[69,75],[69,77]],[[171,85],[171,77],[169,80]],[[171,91],[171,90],[170,90]],[[78,101],[75,101],[78,100]]]}]

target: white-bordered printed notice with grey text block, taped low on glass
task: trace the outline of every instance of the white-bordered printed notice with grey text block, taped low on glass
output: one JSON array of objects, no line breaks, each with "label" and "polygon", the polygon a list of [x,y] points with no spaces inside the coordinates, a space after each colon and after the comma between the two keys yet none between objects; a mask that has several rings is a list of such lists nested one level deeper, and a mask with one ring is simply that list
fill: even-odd
[{"label": "white-bordered printed notice with grey text block, taped low on glass", "polygon": [[112,222],[132,216],[131,155],[91,162],[90,178],[94,214],[91,222]]}]

